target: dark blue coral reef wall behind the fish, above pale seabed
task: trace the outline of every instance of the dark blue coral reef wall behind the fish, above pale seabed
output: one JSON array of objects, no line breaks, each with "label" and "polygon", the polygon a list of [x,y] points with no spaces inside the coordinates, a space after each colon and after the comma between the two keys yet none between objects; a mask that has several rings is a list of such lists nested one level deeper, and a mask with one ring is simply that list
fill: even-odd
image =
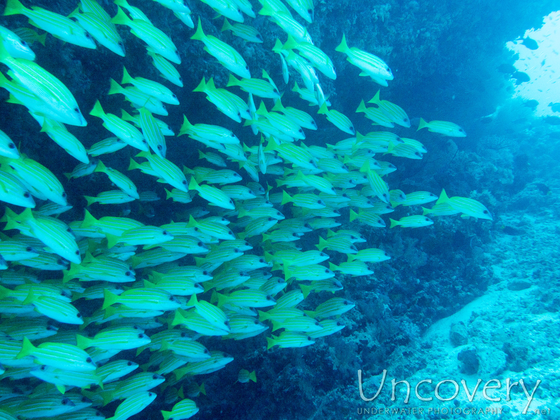
[{"label": "dark blue coral reef wall behind the fish, above pale seabed", "polygon": [[[116,7],[112,3],[100,3],[114,15]],[[494,222],[461,220],[453,216],[438,218],[430,229],[422,230],[379,230],[360,225],[368,244],[385,249],[392,259],[377,264],[372,276],[344,279],[344,296],[356,301],[358,310],[343,315],[347,326],[342,333],[326,337],[312,347],[270,351],[264,349],[262,336],[233,343],[216,340],[214,348],[234,354],[236,358],[225,370],[204,377],[208,395],[201,397],[198,418],[349,418],[349,410],[359,401],[358,368],[366,376],[372,376],[393,366],[391,375],[395,377],[410,376],[424,368],[430,361],[407,358],[402,349],[421,337],[435,321],[481,296],[494,282],[489,249],[495,246],[498,235],[515,235],[524,230],[520,220],[514,225],[514,222],[502,221],[502,215],[539,214],[543,208],[549,208],[550,214],[559,216],[558,206],[553,204],[546,190],[558,188],[550,184],[553,178],[560,178],[558,166],[554,164],[555,156],[557,159],[560,153],[558,139],[550,137],[547,128],[536,123],[511,127],[506,120],[500,120],[501,125],[490,127],[477,122],[481,116],[492,113],[508,96],[507,87],[511,82],[496,71],[500,63],[510,59],[503,45],[525,29],[538,26],[541,17],[552,10],[553,3],[321,0],[315,5],[316,21],[309,26],[309,31],[316,45],[333,58],[339,74],[355,76],[339,77],[337,81],[321,80],[335,108],[353,118],[360,100],[370,99],[377,90],[371,80],[357,77],[357,69],[349,66],[342,54],[334,52],[344,32],[353,45],[379,55],[393,68],[395,80],[382,91],[386,99],[402,106],[411,118],[437,116],[460,124],[469,134],[458,140],[417,134],[415,138],[426,144],[430,153],[421,161],[388,157],[387,160],[399,168],[389,175],[391,188],[405,192],[422,189],[435,194],[445,188],[452,195],[470,196],[487,205],[494,213]],[[76,7],[72,1],[37,1],[34,4],[64,15]],[[258,45],[245,44],[228,32],[220,34],[221,20],[212,20],[214,12],[205,4],[191,1],[189,6],[193,16],[202,17],[208,34],[234,46],[249,66],[267,69],[283,89],[278,55],[271,51],[274,40],[285,37],[277,26],[258,16],[253,25],[265,41]],[[254,7],[258,10],[260,6],[255,2]],[[165,28],[183,59],[179,70],[184,88],[176,90],[181,106],[170,109],[166,122],[177,132],[181,114],[185,113],[193,123],[222,125],[234,129],[247,144],[257,144],[258,138],[249,127],[234,125],[217,113],[201,94],[192,93],[203,76],[214,77],[220,87],[227,81],[226,69],[204,53],[200,43],[189,39],[194,30],[155,2],[143,2],[142,8],[156,26]],[[26,26],[26,18],[22,16],[0,19],[0,24],[7,22],[11,27]],[[122,63],[129,72],[157,80],[157,71],[141,43],[136,42],[128,30],[120,33],[127,46],[127,57]],[[96,99],[101,99],[104,106],[106,104],[106,108],[115,113],[120,109],[120,98],[108,96],[107,91],[111,77],[120,81],[122,64],[114,60],[108,50],[63,45],[49,36],[46,47],[35,48],[35,52],[37,61],[73,92],[83,110],[90,110]],[[6,104],[3,101],[7,99],[5,91],[0,95],[0,115],[10,115],[10,118],[3,118],[1,128],[16,144],[21,144],[22,151],[38,158],[63,179],[63,172],[70,172],[76,161],[45,133],[38,132],[38,125],[23,107]],[[293,106],[305,109],[302,108],[305,102],[287,87],[285,95],[290,97]],[[358,122],[358,118],[353,119]],[[343,138],[334,128],[321,122],[319,130],[310,134],[306,143],[323,145],[335,137],[337,141]],[[88,119],[88,123],[87,130],[68,127],[86,146],[99,140],[97,130],[104,130],[101,122],[93,118]],[[356,128],[360,132],[370,130],[364,119],[360,119]],[[413,129],[402,129],[399,133],[415,136]],[[179,166],[191,166],[198,158],[196,148],[185,146],[193,143],[185,137],[168,138],[167,155]],[[539,153],[543,147],[548,151],[544,160]],[[131,153],[130,148],[121,150],[110,155],[106,163],[125,169]],[[143,184],[144,190],[161,188],[155,181],[153,185],[146,185],[146,178],[139,181],[137,174],[127,175]],[[100,174],[91,176],[94,181],[108,182]],[[78,220],[83,216],[83,206],[77,203],[83,201],[84,194],[95,195],[99,190],[95,184],[91,179],[72,181],[67,191],[69,201],[76,204],[63,219]],[[156,216],[150,224],[166,223],[171,217],[170,207],[157,202],[153,207]],[[407,215],[402,209],[399,212],[400,216]],[[142,214],[137,216],[139,220],[142,217]],[[347,213],[343,213],[342,218],[347,221]],[[358,227],[357,223],[347,226]],[[306,236],[310,244],[314,240],[316,236]],[[541,276],[546,276],[543,274],[546,272],[546,267],[542,268]],[[322,293],[324,297],[328,292]],[[310,298],[309,309],[313,303]],[[234,385],[234,372],[249,366],[257,370],[259,381],[250,387]],[[230,378],[231,383],[228,382]],[[150,412],[143,412],[135,418],[150,418],[148,415]]]}]

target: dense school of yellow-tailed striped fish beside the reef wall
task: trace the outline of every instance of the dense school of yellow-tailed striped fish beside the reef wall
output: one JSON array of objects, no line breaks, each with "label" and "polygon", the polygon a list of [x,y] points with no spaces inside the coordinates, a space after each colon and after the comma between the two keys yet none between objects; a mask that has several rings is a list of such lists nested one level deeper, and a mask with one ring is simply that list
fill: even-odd
[{"label": "dense school of yellow-tailed striped fish beside the reef wall", "polygon": [[[217,110],[250,126],[256,137],[241,140],[218,125],[192,124],[185,115],[178,136],[188,136],[182,138],[199,148],[201,166],[180,168],[166,155],[165,137],[175,133],[160,119],[168,114],[166,106],[180,106],[173,90],[183,86],[175,66],[181,63],[180,52],[165,31],[127,0],[114,0],[114,17],[95,0],[82,0],[69,16],[7,0],[4,15],[24,15],[35,29],[0,27],[0,62],[8,69],[6,75],[0,73],[0,87],[10,93],[8,102],[29,110],[38,132],[48,134],[79,163],[66,174],[68,181],[60,180],[20,153],[0,131],[0,200],[13,205],[2,218],[11,236],[0,234],[0,378],[10,379],[0,384],[2,420],[100,420],[107,414],[102,407],[113,401],[120,403],[110,419],[124,420],[150,405],[158,393],[165,420],[192,417],[199,410],[193,398],[206,394],[196,375],[220,370],[233,360],[207,348],[200,338],[242,340],[267,334],[268,349],[304,347],[344,328],[339,316],[354,307],[346,298],[335,295],[314,310],[298,305],[310,293],[342,290],[339,274],[372,274],[366,263],[390,256],[367,244],[357,248],[366,242],[360,224],[356,230],[337,230],[341,208],[349,207],[351,222],[379,228],[385,227],[381,216],[396,206],[433,201],[432,208],[422,207],[423,214],[390,218],[390,227],[428,226],[433,221],[427,216],[451,214],[492,219],[471,198],[389,189],[385,176],[396,167],[376,157],[421,159],[427,150],[415,139],[388,131],[358,133],[347,115],[330,108],[318,72],[337,78],[333,61],[292,16],[295,11],[311,23],[311,0],[287,0],[291,9],[281,0],[259,0],[258,13],[247,0],[202,1],[224,17],[222,31],[247,42],[263,43],[263,37],[244,24],[244,15],[268,16],[286,33],[286,41],[276,39],[273,48],[284,83],[298,73],[303,85],[294,82],[292,90],[340,130],[340,141],[324,147],[306,146],[305,130],[317,130],[318,124],[309,113],[287,106],[287,97],[282,98],[265,69],[250,69],[232,46],[206,35],[183,0],[156,1],[193,29],[192,42],[202,42],[204,51],[231,72],[227,86],[203,78],[192,95],[200,100],[206,95]],[[69,124],[87,130],[84,113],[72,92],[35,62],[31,46],[44,45],[50,34],[76,48],[107,48],[124,57],[123,30],[146,46],[161,81],[172,89],[123,67],[122,78],[110,80],[108,94],[123,95],[130,110],[119,116],[99,100],[86,110],[106,129],[99,142],[86,148],[66,129]],[[349,47],[345,36],[335,51],[345,54],[360,76],[381,86],[393,80],[384,60]],[[410,127],[405,111],[381,99],[379,91],[365,100],[356,113],[365,114],[372,125]],[[422,128],[444,136],[466,135],[444,121],[421,119]],[[104,164],[105,155],[124,147],[137,149],[136,157],[120,170]],[[241,174],[231,169],[234,164]],[[166,199],[185,205],[183,221],[146,226],[128,217],[94,217],[89,206],[99,211],[105,204],[160,199],[154,192],[139,191],[127,168],[166,184]],[[77,204],[68,202],[64,185],[93,172],[106,174],[115,189],[86,196],[83,219],[64,221],[63,213]],[[276,185],[263,182],[265,174]],[[189,205],[196,195],[212,206],[212,216],[206,207]],[[314,230],[319,232],[317,249],[302,250],[298,241]],[[346,262],[329,262],[334,253],[346,254]],[[193,256],[195,265],[186,265]],[[92,300],[98,309],[82,316],[79,308],[83,302],[94,305]],[[150,360],[139,366],[119,357],[130,349],[137,356],[148,352]],[[256,382],[256,373],[241,369],[237,381]]]}]

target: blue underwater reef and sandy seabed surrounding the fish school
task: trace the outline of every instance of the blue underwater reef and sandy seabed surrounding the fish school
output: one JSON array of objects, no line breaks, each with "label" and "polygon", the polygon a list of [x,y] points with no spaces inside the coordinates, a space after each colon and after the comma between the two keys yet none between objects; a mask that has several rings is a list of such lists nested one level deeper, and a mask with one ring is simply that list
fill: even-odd
[{"label": "blue underwater reef and sandy seabed surrounding the fish school", "polygon": [[[183,165],[213,167],[199,160],[198,151],[209,150],[202,143],[186,136],[176,137],[183,114],[193,124],[220,125],[231,129],[247,146],[258,146],[260,134],[255,136],[251,127],[235,123],[216,110],[203,94],[193,92],[203,77],[206,80],[212,77],[217,87],[225,87],[230,74],[204,52],[202,43],[190,39],[195,29],[190,29],[172,11],[155,1],[131,0],[129,3],[141,8],[153,25],[170,36],[176,45],[181,58],[176,68],[184,86],[172,85],[161,78],[146,54],[144,43],[123,25],[117,27],[125,44],[125,57],[102,46],[81,48],[47,35],[44,46],[39,43],[32,46],[35,62],[68,87],[87,120],[87,127],[67,125],[69,132],[86,148],[110,136],[99,118],[88,115],[96,100],[106,112],[120,115],[123,108],[132,113],[133,108],[125,104],[122,96],[108,95],[110,78],[120,82],[124,65],[131,75],[163,83],[177,96],[180,105],[167,106],[169,115],[158,118],[175,132],[175,137],[165,139],[166,157],[180,168]],[[77,7],[76,2],[66,0],[34,0],[24,4],[64,16]],[[113,2],[99,0],[99,4],[111,16],[116,14]],[[325,147],[349,137],[323,115],[317,115],[318,108],[311,108],[307,101],[292,92],[293,80],[301,85],[293,69],[290,82],[284,84],[281,61],[272,48],[276,39],[284,42],[286,34],[267,16],[258,14],[261,4],[251,4],[256,17],[245,16],[245,24],[260,32],[263,43],[246,42],[230,31],[221,32],[223,17],[214,19],[216,12],[207,4],[188,2],[195,28],[200,17],[204,32],[235,48],[253,77],[260,77],[261,69],[266,69],[279,91],[284,92],[284,106],[304,110],[314,117],[318,129],[306,130],[304,142],[307,146]],[[1,6],[3,9],[3,4]],[[390,229],[350,222],[348,209],[340,209],[341,216],[337,218],[337,222],[342,223],[340,228],[356,230],[367,240],[365,244],[356,244],[363,245],[358,249],[379,248],[391,256],[389,260],[371,265],[374,274],[357,277],[337,274],[344,288],[335,296],[356,304],[340,318],[346,327],[302,348],[267,349],[265,337],[270,336],[269,331],[242,340],[204,337],[202,342],[207,348],[231,354],[234,360],[221,370],[193,377],[198,384],[204,382],[206,388],[206,395],[193,398],[199,408],[193,418],[354,419],[368,418],[368,414],[358,414],[358,408],[407,406],[403,404],[404,388],[398,388],[396,400],[391,401],[390,384],[385,384],[371,403],[360,398],[357,371],[362,370],[365,395],[372,396],[384,369],[388,371],[388,381],[394,377],[397,381],[407,380],[412,386],[430,378],[434,382],[446,378],[458,382],[466,379],[469,385],[471,382],[474,385],[479,377],[483,384],[493,378],[505,383],[507,377],[512,380],[523,377],[533,389],[535,381],[540,379],[542,383],[530,411],[550,408],[552,414],[545,416],[543,413],[543,417],[560,418],[560,128],[556,120],[547,122],[546,115],[535,115],[534,109],[525,105],[530,98],[512,97],[517,86],[530,81],[512,78],[514,72],[507,71],[507,66],[511,66],[516,57],[505,47],[508,41],[522,38],[531,27],[540,27],[543,17],[558,8],[558,2],[531,0],[319,0],[315,2],[311,24],[293,13],[296,20],[305,24],[315,45],[333,60],[336,80],[319,74],[322,90],[332,108],[347,115],[357,132],[382,129],[400,137],[417,139],[426,147],[428,153],[421,160],[382,157],[381,160],[391,162],[398,169],[384,177],[390,189],[405,193],[422,190],[435,195],[445,189],[449,197],[469,197],[483,203],[493,220],[442,216],[433,217],[431,226]],[[13,30],[31,27],[27,21],[23,15],[3,16],[0,24]],[[349,45],[375,54],[389,65],[394,80],[389,81],[388,87],[377,85],[369,77],[358,76],[358,69],[346,61],[346,56],[335,52],[343,34]],[[7,67],[2,65],[2,69],[6,73]],[[370,120],[354,113],[362,99],[367,102],[379,89],[382,99],[398,104],[407,112],[412,122],[410,128],[372,129]],[[240,93],[237,88],[230,90],[246,98],[245,92]],[[0,95],[0,129],[20,152],[48,167],[64,185],[68,203],[73,207],[60,214],[60,220],[66,223],[83,220],[87,204],[83,196],[115,189],[111,181],[101,172],[68,180],[64,173],[72,172],[78,161],[39,131],[38,123],[24,106],[5,102],[8,99],[6,90]],[[560,98],[553,102],[557,101]],[[484,118],[493,114],[498,106],[500,113]],[[556,112],[549,109],[547,115],[559,115],[558,109]],[[427,130],[416,132],[419,118],[454,122],[467,136],[445,137]],[[146,225],[160,226],[171,221],[188,221],[188,213],[185,213],[188,208],[206,204],[199,197],[189,204],[166,200],[164,188],[169,189],[169,185],[158,183],[156,178],[139,171],[127,171],[130,158],[137,152],[125,147],[101,157],[106,166],[126,174],[136,184],[138,192],[155,192],[160,199],[149,203],[136,200],[127,204],[93,204],[88,209],[97,219],[126,216]],[[228,163],[228,169],[238,171],[244,180],[249,179],[236,164]],[[259,182],[265,189],[267,183],[276,187],[276,178],[276,175],[261,175]],[[278,191],[281,189],[271,193]],[[38,203],[41,202],[38,200]],[[16,213],[23,209],[8,207]],[[282,206],[275,207],[283,211]],[[216,207],[208,209],[210,216],[219,213]],[[387,216],[398,220],[421,211],[419,206],[398,207]],[[388,217],[385,220],[388,222]],[[314,249],[319,234],[325,236],[324,232],[305,234],[298,246]],[[8,236],[15,233],[17,231],[8,231]],[[331,256],[329,262],[346,261],[344,254],[326,253]],[[184,261],[181,265],[194,265],[191,256],[181,261]],[[41,279],[62,278],[62,272],[37,274]],[[306,298],[302,309],[312,310],[331,297],[329,291],[314,293]],[[101,300],[82,300],[76,306],[87,318],[101,306]],[[10,319],[10,315],[3,315],[2,323],[9,323]],[[59,332],[73,327],[57,325]],[[143,364],[150,357],[147,353],[137,357],[136,349],[125,350],[118,358]],[[255,371],[257,381],[236,382],[240,369]],[[19,381],[21,385],[18,386],[30,392],[38,383],[32,377]],[[0,385],[10,388],[13,380],[3,376]],[[158,419],[162,418],[160,410],[171,409],[173,404],[164,401],[164,393],[157,388],[155,392],[158,398],[130,418]],[[452,389],[449,392],[452,394]],[[461,389],[458,398],[447,407],[502,407],[500,415],[486,413],[479,414],[479,418],[522,416],[526,397],[519,387],[512,390],[511,401],[507,402],[505,398],[501,402],[491,402],[479,394],[471,403]],[[439,401],[420,402],[413,395],[408,405],[444,406]],[[109,418],[116,405],[113,402],[96,409]],[[465,416],[400,413],[392,417]]]}]

